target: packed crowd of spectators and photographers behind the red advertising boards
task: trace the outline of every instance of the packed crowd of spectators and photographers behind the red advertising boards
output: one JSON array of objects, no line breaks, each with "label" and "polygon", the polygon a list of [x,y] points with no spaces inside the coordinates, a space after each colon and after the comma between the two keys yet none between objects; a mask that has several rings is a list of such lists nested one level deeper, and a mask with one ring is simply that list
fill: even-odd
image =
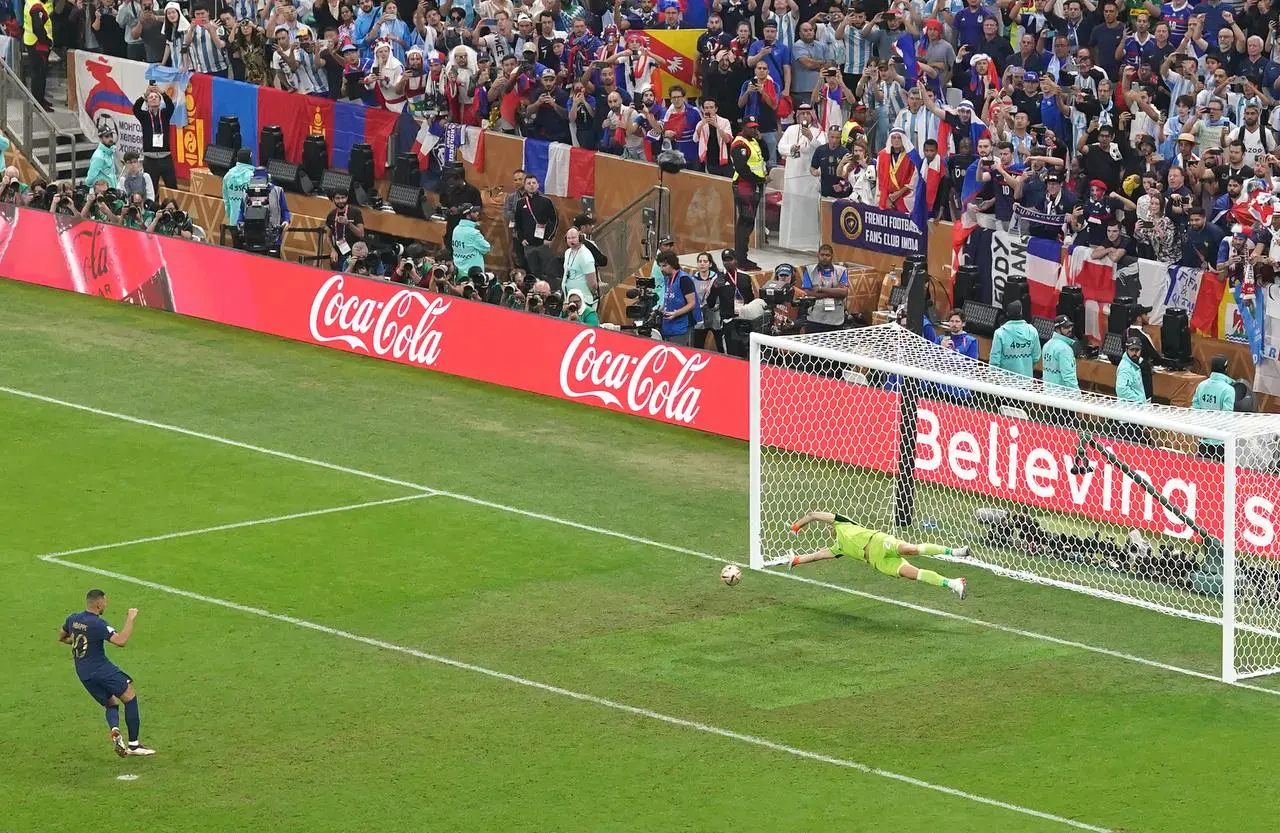
[{"label": "packed crowd of spectators and photographers behind the red advertising boards", "polygon": [[[1249,292],[1271,279],[1280,247],[1272,0],[712,0],[686,68],[652,33],[685,27],[687,10],[681,0],[26,0],[17,23],[33,90],[50,54],[82,47],[630,159],[668,150],[689,169],[731,177],[732,257],[699,258],[689,303],[689,273],[668,274],[660,257],[654,266],[658,306],[687,319],[685,333],[710,329],[700,288],[712,274],[739,285],[737,269],[755,266],[746,238],[778,166],[783,242],[797,223],[788,206],[810,197],[899,211],[923,198],[937,219],[970,211],[1117,262],[1226,270]],[[659,97],[659,69],[690,86],[667,83]],[[168,184],[172,170],[141,163],[143,193]],[[338,196],[326,219],[333,265],[470,293],[479,288],[467,275],[485,271],[485,253],[509,246],[511,303],[530,303],[543,287],[576,292],[591,321],[603,255],[590,218],[557,229],[536,179],[515,178],[508,241],[485,239],[479,193],[444,179],[451,251],[439,262],[375,257],[360,239],[360,207]],[[102,186],[91,177],[90,188]],[[123,221],[136,198],[125,193],[81,211]],[[161,214],[140,207],[129,221],[146,226]],[[819,256],[794,278],[829,301],[847,294],[841,271]],[[749,282],[736,303],[748,293]]]}]

